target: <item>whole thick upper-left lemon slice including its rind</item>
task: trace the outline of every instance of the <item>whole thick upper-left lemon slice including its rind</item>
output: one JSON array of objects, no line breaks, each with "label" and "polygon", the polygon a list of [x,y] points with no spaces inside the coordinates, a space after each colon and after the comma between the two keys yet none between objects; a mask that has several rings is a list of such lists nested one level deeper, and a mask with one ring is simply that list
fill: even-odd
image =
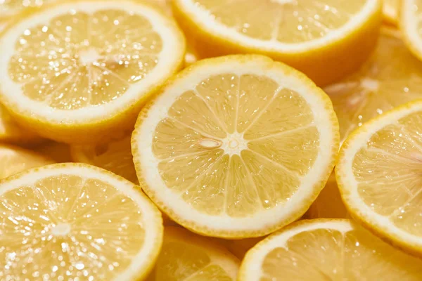
[{"label": "whole thick upper-left lemon slice including its rind", "polygon": [[184,61],[183,34],[137,1],[60,1],[0,37],[0,97],[55,141],[94,143],[132,129],[149,96]]}]

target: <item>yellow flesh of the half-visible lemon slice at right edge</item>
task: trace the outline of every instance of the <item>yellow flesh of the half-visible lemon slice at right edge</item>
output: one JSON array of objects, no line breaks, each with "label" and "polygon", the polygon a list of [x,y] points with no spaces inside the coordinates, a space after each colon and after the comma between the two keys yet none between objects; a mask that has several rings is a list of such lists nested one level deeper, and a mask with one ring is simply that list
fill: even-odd
[{"label": "yellow flesh of the half-visible lemon slice at right edge", "polygon": [[398,228],[422,237],[422,114],[374,133],[353,160],[359,197]]}]

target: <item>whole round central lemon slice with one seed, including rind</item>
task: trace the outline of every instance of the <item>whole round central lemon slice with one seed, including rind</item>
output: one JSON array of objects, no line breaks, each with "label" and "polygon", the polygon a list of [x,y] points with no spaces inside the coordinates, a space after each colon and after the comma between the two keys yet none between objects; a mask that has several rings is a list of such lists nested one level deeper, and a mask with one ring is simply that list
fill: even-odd
[{"label": "whole round central lemon slice with one seed, including rind", "polygon": [[204,235],[267,235],[302,216],[338,153],[328,96],[261,55],[201,60],[144,107],[132,134],[141,187]]}]

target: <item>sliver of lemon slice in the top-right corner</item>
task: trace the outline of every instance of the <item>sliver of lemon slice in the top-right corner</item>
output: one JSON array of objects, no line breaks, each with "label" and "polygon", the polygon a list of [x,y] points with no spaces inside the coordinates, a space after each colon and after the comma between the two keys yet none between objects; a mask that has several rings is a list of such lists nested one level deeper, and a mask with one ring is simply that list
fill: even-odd
[{"label": "sliver of lemon slice in the top-right corner", "polygon": [[400,30],[404,41],[411,51],[422,60],[422,2],[420,0],[402,0]]}]

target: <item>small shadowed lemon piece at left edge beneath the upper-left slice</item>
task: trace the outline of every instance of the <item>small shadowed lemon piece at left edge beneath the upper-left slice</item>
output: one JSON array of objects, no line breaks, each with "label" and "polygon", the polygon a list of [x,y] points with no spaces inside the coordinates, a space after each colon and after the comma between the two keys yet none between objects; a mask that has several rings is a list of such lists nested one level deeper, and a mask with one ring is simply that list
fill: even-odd
[{"label": "small shadowed lemon piece at left edge beneath the upper-left slice", "polygon": [[34,144],[40,143],[42,138],[37,134],[21,128],[13,117],[0,105],[0,141],[2,143]]}]

